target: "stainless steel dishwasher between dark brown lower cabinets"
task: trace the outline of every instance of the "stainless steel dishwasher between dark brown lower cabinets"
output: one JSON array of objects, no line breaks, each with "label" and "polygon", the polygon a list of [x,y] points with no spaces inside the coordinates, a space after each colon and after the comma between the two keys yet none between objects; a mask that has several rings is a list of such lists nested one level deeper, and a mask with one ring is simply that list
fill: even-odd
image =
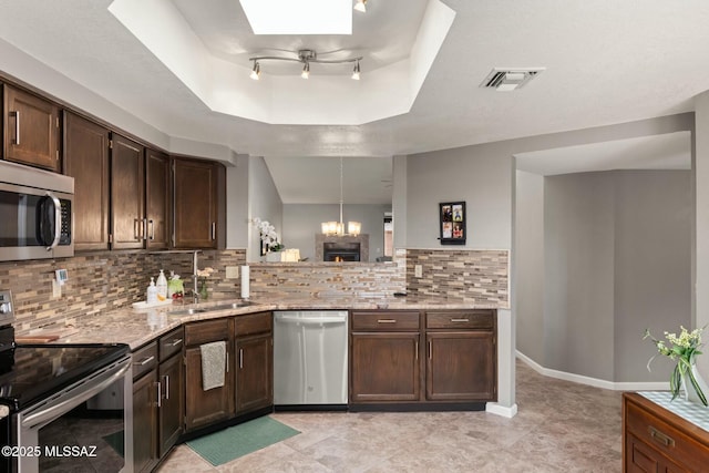
[{"label": "stainless steel dishwasher between dark brown lower cabinets", "polygon": [[347,407],[347,310],[274,312],[276,409]]}]

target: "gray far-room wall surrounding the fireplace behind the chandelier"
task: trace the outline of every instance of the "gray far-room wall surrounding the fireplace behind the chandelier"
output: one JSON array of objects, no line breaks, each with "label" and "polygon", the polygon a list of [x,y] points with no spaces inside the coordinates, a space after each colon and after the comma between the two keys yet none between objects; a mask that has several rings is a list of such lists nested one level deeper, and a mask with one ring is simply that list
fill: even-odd
[{"label": "gray far-room wall surrounding the fireplace behind the chandelier", "polygon": [[[374,261],[384,253],[384,212],[391,205],[343,204],[342,219],[362,224],[362,234],[369,235],[369,260]],[[300,257],[315,260],[315,235],[321,223],[339,220],[339,204],[286,204],[284,205],[284,235],[286,247],[300,249]]]}]

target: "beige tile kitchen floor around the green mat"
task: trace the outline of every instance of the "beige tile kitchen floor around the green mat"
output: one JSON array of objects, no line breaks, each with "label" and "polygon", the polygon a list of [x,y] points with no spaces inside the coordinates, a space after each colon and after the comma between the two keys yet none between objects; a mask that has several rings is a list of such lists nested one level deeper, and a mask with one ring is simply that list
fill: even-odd
[{"label": "beige tile kitchen floor around the green mat", "polygon": [[179,445],[160,472],[620,472],[620,393],[517,362],[518,413],[276,413],[301,433],[212,466]]}]

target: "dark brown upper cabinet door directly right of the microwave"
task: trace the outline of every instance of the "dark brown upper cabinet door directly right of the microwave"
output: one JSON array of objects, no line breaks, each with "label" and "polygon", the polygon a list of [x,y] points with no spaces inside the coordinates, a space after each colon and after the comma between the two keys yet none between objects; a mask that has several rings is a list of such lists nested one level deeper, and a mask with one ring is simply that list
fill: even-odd
[{"label": "dark brown upper cabinet door directly right of the microwave", "polygon": [[109,131],[64,114],[64,174],[74,178],[76,250],[109,249]]}]

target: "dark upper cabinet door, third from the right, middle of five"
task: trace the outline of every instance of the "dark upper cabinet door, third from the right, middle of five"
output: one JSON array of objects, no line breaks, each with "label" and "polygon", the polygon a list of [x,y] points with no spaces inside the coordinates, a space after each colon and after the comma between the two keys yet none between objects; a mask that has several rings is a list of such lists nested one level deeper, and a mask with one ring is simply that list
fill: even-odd
[{"label": "dark upper cabinet door, third from the right, middle of five", "polygon": [[144,148],[113,134],[111,147],[111,233],[113,248],[143,248],[145,235]]}]

